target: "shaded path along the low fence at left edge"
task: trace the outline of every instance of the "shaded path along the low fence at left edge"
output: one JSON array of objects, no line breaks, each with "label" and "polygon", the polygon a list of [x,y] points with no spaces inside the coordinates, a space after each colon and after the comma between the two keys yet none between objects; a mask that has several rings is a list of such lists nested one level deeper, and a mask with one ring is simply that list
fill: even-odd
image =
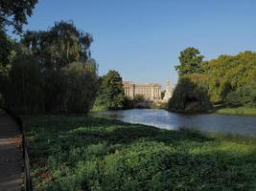
[{"label": "shaded path along the low fence at left edge", "polygon": [[19,134],[16,123],[0,109],[0,191],[21,189],[22,155],[12,142]]}]

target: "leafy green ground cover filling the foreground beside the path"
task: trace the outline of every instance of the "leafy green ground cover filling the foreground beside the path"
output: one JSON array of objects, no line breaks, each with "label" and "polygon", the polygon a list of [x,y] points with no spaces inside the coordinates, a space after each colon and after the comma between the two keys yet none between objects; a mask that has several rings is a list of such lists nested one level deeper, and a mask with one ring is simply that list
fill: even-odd
[{"label": "leafy green ground cover filling the foreground beside the path", "polygon": [[24,117],[35,190],[256,190],[256,140]]}]

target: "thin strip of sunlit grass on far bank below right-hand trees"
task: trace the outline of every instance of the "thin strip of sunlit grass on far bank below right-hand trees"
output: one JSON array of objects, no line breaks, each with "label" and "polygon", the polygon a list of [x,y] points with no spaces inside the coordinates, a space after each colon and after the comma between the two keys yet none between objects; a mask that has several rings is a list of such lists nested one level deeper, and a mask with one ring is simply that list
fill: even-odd
[{"label": "thin strip of sunlit grass on far bank below right-hand trees", "polygon": [[227,114],[227,115],[256,116],[256,108],[248,108],[248,107],[222,108],[217,110],[216,113]]}]

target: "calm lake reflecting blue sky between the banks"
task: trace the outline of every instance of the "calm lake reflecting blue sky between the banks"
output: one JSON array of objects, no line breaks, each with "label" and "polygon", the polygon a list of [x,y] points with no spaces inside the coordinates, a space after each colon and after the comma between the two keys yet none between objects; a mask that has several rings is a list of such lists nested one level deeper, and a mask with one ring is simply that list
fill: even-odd
[{"label": "calm lake reflecting blue sky between the banks", "polygon": [[256,138],[256,117],[230,115],[179,115],[165,110],[132,109],[97,112],[93,117],[119,119],[130,123],[151,125],[161,129],[195,129],[208,133],[235,134]]}]

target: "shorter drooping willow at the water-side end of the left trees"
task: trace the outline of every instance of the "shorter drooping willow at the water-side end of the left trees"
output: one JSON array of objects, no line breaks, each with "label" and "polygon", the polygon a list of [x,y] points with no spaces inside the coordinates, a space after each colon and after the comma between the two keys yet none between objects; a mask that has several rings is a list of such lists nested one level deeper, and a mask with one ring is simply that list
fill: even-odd
[{"label": "shorter drooping willow at the water-side end of the left trees", "polygon": [[63,68],[62,105],[65,113],[86,114],[93,106],[98,90],[93,63],[74,62]]}]

